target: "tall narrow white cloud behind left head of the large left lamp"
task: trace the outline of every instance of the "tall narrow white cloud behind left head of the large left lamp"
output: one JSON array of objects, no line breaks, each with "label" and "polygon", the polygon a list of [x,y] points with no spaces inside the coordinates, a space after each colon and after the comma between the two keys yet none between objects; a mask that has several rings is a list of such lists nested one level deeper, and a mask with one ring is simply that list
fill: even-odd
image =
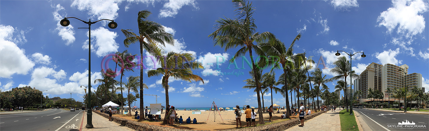
[{"label": "tall narrow white cloud behind left head of the large left lamp", "polygon": [[76,40],[74,36],[75,30],[73,29],[72,24],[66,27],[60,25],[60,20],[62,20],[64,16],[67,15],[65,12],[63,15],[60,15],[59,13],[60,11],[65,10],[64,7],[60,4],[51,7],[55,9],[55,11],[52,12],[52,15],[54,15],[54,20],[57,22],[57,28],[55,28],[55,30],[58,31],[58,35],[61,37],[61,39],[66,41],[66,45],[72,44]]}]

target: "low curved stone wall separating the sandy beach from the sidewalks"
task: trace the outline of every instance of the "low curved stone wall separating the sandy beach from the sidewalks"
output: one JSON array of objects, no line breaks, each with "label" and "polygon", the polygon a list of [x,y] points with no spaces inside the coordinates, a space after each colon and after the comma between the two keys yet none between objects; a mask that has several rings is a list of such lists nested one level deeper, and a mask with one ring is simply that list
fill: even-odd
[{"label": "low curved stone wall separating the sandy beach from the sidewalks", "polygon": [[[103,117],[109,118],[109,114],[101,113],[100,111],[92,111],[93,113],[97,113]],[[311,115],[307,115],[304,117],[305,121],[308,119],[312,119],[315,116],[324,113],[324,111],[319,111],[317,113],[312,113]],[[113,122],[124,125],[128,128],[134,129],[136,131],[195,131],[195,130],[187,130],[187,129],[179,129],[179,128],[169,128],[157,125],[149,125],[142,122],[135,122],[128,119],[119,118],[116,116],[112,116]],[[239,129],[230,129],[230,130],[222,130],[222,131],[284,131],[287,128],[291,128],[295,125],[299,125],[301,122],[299,119],[292,119],[285,122],[278,122],[269,125],[261,125],[257,127],[249,127],[249,128],[239,128]]]}]

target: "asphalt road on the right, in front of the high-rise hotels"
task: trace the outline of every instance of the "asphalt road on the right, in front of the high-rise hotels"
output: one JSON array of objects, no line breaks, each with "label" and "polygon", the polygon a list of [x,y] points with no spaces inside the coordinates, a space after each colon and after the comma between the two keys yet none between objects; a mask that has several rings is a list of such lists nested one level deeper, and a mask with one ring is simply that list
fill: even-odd
[{"label": "asphalt road on the right, in front of the high-rise hotels", "polygon": [[[375,111],[353,108],[373,131],[429,131],[429,115],[405,114],[388,111]],[[399,125],[398,123],[414,122],[415,125]],[[402,127],[401,127],[402,126]]]}]

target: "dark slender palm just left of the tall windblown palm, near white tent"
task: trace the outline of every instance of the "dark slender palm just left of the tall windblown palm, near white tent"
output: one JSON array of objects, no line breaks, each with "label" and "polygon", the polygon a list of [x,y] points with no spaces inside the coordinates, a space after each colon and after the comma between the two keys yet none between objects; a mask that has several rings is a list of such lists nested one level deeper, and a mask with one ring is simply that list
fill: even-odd
[{"label": "dark slender palm just left of the tall windblown palm, near white tent", "polygon": [[[137,54],[136,54],[137,55]],[[133,67],[136,65],[136,62],[132,62],[134,60],[134,57],[136,55],[131,55],[131,53],[128,53],[128,50],[125,49],[123,52],[116,52],[116,54],[113,56],[113,61],[121,67],[121,81],[119,83],[120,87],[117,88],[117,90],[121,90],[122,99],[121,102],[124,103],[124,93],[122,93],[123,90],[125,90],[124,87],[122,87],[122,77],[124,75],[124,70],[127,71],[133,71]],[[115,70],[116,71],[116,70]],[[124,105],[121,104],[121,107],[124,108]]]}]

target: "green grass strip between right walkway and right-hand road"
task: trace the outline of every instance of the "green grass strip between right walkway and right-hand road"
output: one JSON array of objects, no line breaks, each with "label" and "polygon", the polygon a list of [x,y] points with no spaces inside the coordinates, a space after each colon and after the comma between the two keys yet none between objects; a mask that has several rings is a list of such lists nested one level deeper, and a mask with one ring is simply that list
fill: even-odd
[{"label": "green grass strip between right walkway and right-hand road", "polygon": [[359,131],[354,115],[346,110],[340,111],[341,131]]}]

